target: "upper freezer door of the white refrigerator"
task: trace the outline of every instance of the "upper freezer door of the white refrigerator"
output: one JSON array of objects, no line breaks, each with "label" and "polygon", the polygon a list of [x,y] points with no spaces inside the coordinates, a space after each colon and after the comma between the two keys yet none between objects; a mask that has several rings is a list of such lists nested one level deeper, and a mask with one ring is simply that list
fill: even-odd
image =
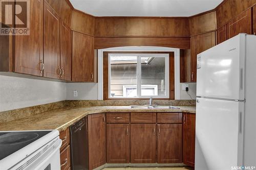
[{"label": "upper freezer door of the white refrigerator", "polygon": [[245,34],[197,56],[197,96],[244,100]]}]

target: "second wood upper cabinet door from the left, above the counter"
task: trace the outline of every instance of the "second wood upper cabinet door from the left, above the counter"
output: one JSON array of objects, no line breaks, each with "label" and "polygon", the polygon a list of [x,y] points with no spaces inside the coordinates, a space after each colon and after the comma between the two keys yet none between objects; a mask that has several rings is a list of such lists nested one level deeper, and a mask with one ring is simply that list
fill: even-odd
[{"label": "second wood upper cabinet door from the left, above the counter", "polygon": [[45,2],[44,10],[44,77],[60,78],[60,18]]}]

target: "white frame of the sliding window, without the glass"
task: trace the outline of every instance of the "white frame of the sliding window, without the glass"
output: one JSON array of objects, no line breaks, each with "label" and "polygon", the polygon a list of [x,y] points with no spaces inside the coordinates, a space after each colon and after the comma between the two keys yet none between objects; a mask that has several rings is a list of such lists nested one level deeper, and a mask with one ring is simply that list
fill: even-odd
[{"label": "white frame of the sliding window, without the glass", "polygon": [[[133,98],[115,98],[111,96],[111,56],[137,56],[137,97]],[[165,95],[143,95],[141,96],[141,57],[164,57],[165,58]],[[158,98],[158,99],[168,99],[169,98],[169,54],[154,54],[154,53],[133,53],[133,54],[120,54],[120,53],[110,53],[108,56],[108,83],[109,83],[109,91],[108,98],[109,99],[144,99],[144,98]]]}]

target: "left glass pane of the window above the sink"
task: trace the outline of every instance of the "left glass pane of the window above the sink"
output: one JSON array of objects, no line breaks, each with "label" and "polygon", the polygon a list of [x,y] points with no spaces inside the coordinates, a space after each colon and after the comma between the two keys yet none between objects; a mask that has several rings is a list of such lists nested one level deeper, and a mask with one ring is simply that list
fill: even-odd
[{"label": "left glass pane of the window above the sink", "polygon": [[137,56],[111,56],[110,98],[135,98]]}]

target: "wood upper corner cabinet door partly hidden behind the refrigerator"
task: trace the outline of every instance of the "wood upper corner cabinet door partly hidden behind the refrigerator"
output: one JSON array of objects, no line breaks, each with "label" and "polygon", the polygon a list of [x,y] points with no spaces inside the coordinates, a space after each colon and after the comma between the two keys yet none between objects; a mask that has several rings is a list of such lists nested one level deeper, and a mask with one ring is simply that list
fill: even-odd
[{"label": "wood upper corner cabinet door partly hidden behind the refrigerator", "polygon": [[197,81],[197,55],[216,44],[215,32],[205,33],[190,38],[190,81]]}]

